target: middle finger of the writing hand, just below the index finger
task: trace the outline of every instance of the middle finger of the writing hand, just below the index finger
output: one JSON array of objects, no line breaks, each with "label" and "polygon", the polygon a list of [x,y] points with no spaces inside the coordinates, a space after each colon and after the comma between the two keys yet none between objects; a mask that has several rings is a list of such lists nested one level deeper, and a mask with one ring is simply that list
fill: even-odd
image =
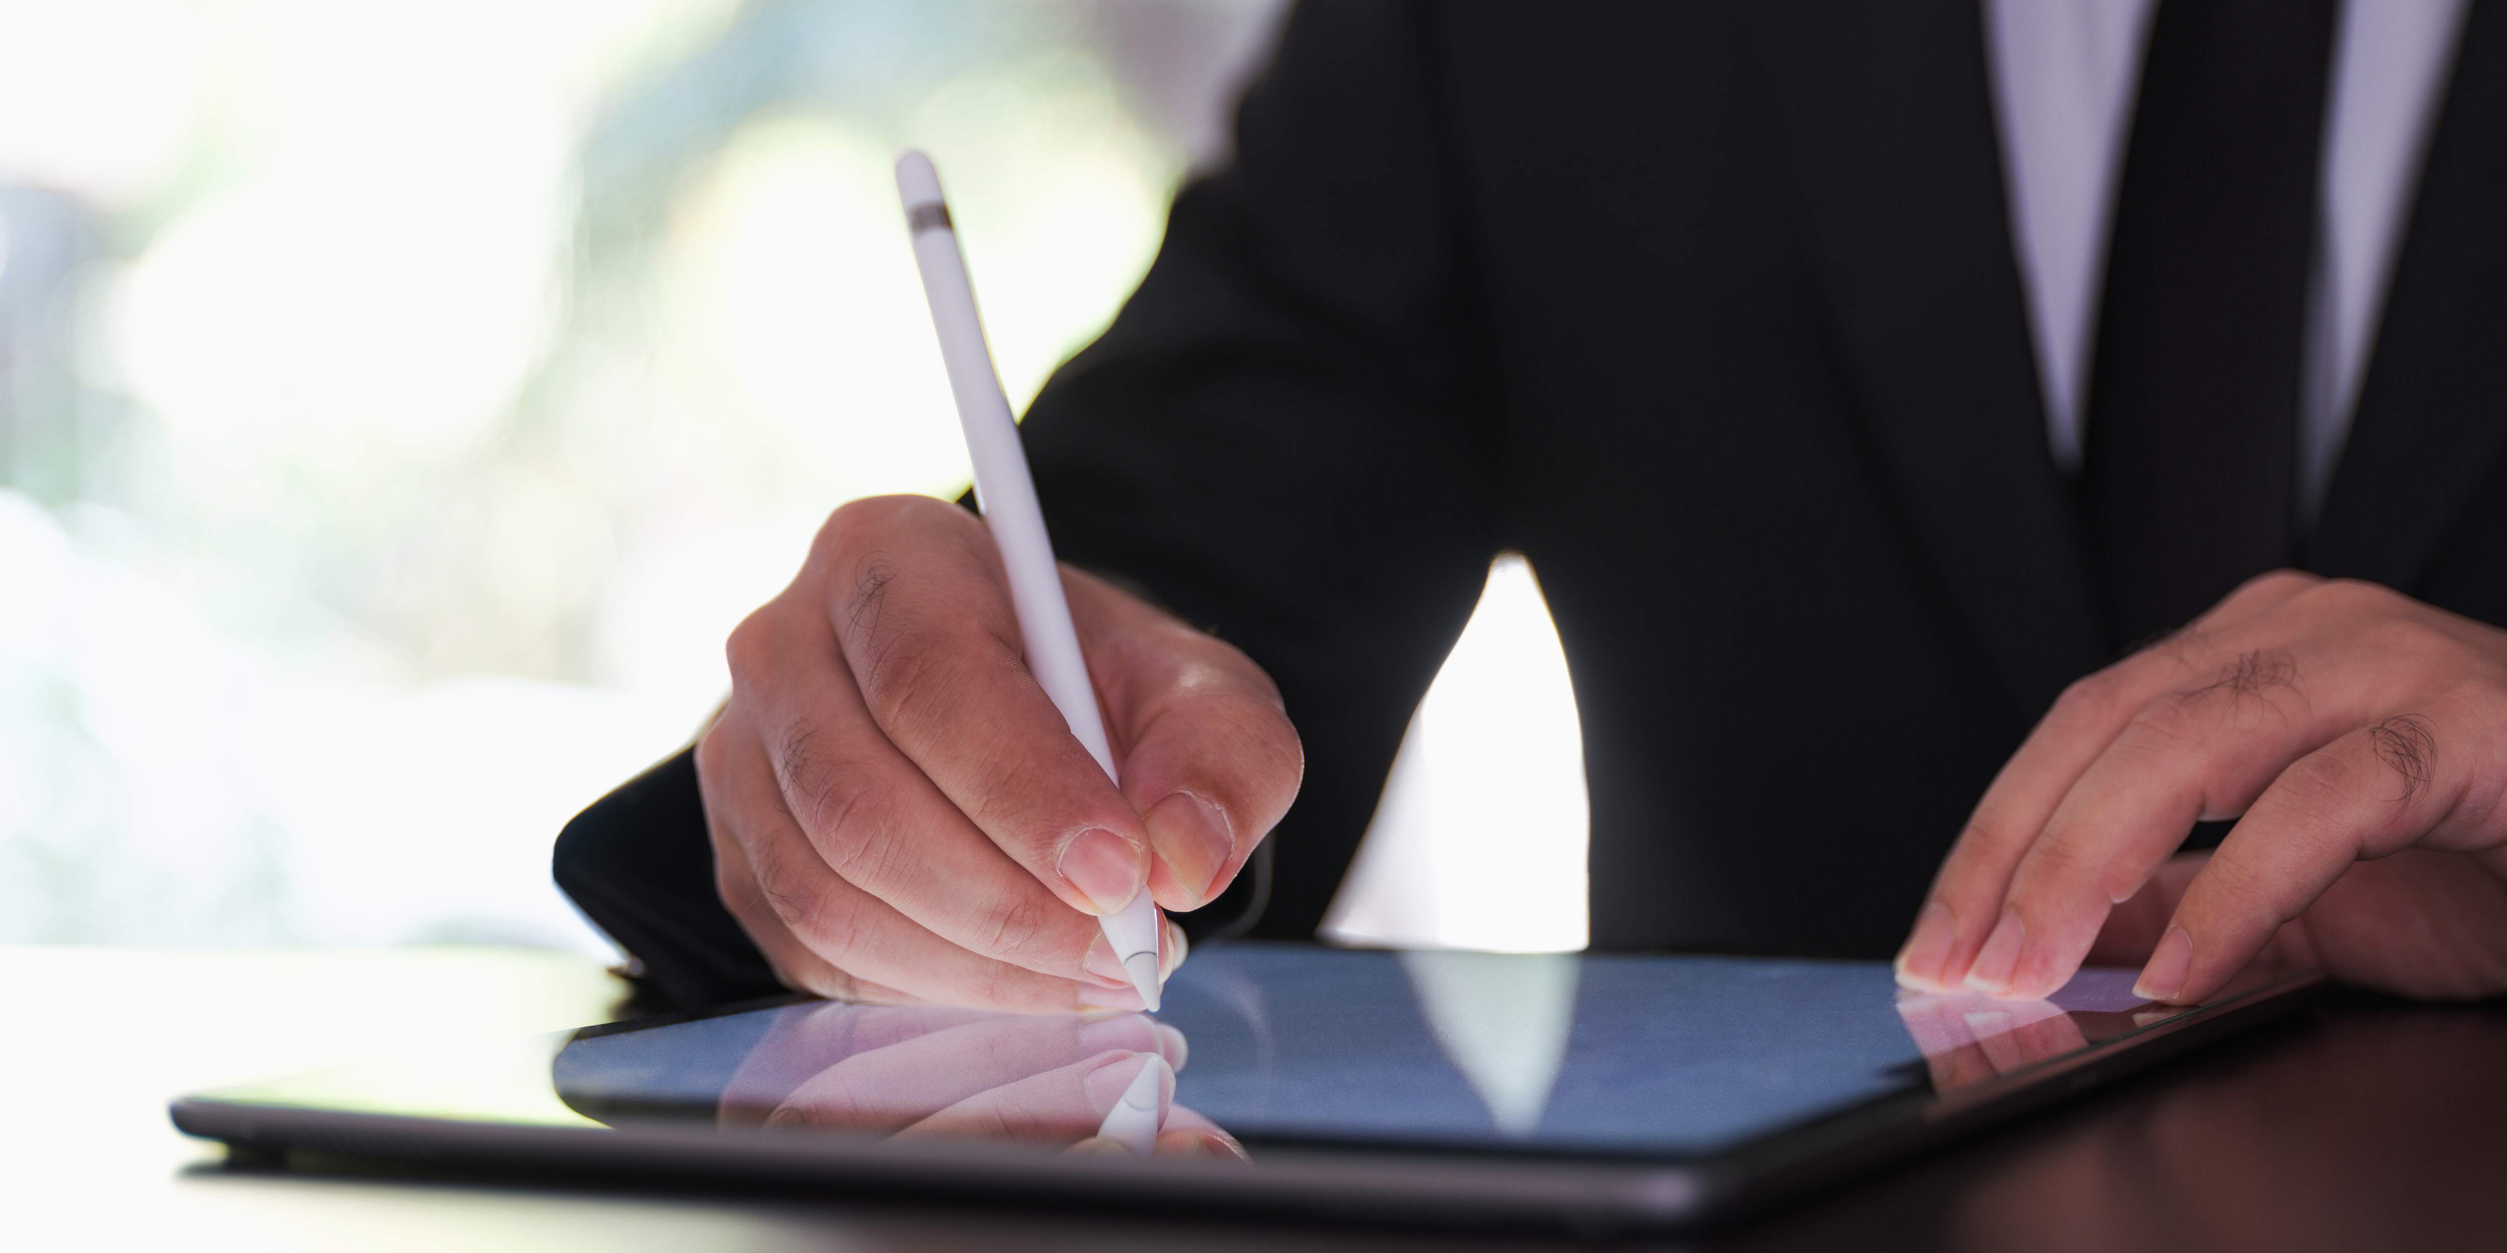
[{"label": "middle finger of the writing hand, just below the index finger", "polygon": [[820,594],[795,594],[732,632],[785,812],[837,877],[933,935],[1043,975],[1131,987],[1093,917],[985,837],[872,722],[845,672]]}]

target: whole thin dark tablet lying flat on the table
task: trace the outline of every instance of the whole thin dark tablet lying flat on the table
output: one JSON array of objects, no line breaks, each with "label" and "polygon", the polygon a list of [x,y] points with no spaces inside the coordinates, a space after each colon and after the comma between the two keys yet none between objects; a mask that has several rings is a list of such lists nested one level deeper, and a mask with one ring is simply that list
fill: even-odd
[{"label": "whole thin dark tablet lying flat on the table", "polygon": [[1880,962],[1213,945],[1151,1015],[785,997],[188,1095],[256,1155],[1579,1230],[1727,1218],[2294,1007],[2083,970],[2041,1002]]}]

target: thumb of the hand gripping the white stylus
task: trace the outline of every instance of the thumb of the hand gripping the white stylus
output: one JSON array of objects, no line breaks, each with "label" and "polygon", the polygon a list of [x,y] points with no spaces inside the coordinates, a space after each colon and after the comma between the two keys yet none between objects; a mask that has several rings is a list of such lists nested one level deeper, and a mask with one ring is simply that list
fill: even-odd
[{"label": "thumb of the hand gripping the white stylus", "polygon": [[1289,812],[1306,754],[1279,687],[1246,654],[1078,571],[1070,616],[1098,674],[1123,797],[1156,850],[1148,887],[1198,910]]}]

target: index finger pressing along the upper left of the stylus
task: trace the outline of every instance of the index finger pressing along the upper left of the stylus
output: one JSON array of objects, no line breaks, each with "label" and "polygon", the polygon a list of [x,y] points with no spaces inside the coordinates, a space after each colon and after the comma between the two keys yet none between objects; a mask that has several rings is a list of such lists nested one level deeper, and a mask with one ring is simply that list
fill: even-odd
[{"label": "index finger pressing along the upper left of the stylus", "polygon": [[822,544],[825,611],[880,732],[1065,905],[1131,905],[1148,832],[1028,674],[983,524],[880,496],[840,509]]}]

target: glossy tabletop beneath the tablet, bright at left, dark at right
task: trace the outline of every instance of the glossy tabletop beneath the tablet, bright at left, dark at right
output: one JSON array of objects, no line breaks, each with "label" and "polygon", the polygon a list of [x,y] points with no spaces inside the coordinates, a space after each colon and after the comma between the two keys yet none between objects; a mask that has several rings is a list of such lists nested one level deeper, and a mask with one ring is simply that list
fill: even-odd
[{"label": "glossy tabletop beneath the tablet, bright at left, dark at right", "polygon": [[[1544,1248],[1522,1238],[1043,1208],[652,1195],[391,1170],[238,1170],[183,1090],[614,1017],[599,965],[524,950],[0,947],[13,1248]],[[2507,1005],[2329,997],[1705,1248],[2507,1248]],[[33,1118],[28,1118],[33,1115]],[[20,1243],[35,1235],[33,1243]],[[45,1238],[50,1235],[50,1238]]]}]

